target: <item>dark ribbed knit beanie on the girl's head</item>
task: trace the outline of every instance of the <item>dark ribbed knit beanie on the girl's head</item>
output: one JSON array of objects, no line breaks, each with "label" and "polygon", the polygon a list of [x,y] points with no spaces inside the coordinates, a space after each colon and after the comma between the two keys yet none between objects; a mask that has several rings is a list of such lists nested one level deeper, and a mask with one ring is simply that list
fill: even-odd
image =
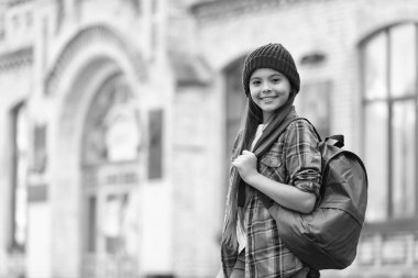
[{"label": "dark ribbed knit beanie on the girl's head", "polygon": [[266,44],[246,56],[242,73],[244,92],[250,96],[250,78],[257,68],[273,68],[285,75],[296,92],[300,89],[300,79],[294,58],[282,44]]}]

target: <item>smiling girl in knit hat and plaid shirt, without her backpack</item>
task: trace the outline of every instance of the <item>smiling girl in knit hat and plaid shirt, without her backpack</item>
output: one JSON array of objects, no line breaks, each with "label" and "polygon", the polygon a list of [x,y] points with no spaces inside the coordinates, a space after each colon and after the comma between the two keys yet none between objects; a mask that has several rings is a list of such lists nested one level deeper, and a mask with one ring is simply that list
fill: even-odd
[{"label": "smiling girl in knit hat and plaid shirt, without her backpack", "polygon": [[246,57],[242,80],[248,110],[232,154],[219,277],[319,277],[284,245],[260,199],[262,192],[288,209],[312,211],[321,184],[312,126],[294,121],[258,159],[252,153],[257,142],[297,116],[293,102],[300,80],[295,62],[280,44],[261,46]]}]

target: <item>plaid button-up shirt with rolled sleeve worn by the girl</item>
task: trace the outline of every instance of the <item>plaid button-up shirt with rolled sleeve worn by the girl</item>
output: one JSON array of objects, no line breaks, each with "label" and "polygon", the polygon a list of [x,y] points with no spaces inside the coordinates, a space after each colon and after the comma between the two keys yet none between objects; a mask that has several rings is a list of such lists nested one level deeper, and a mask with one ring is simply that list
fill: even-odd
[{"label": "plaid button-up shirt with rolled sleeve worn by the girl", "polygon": [[[277,142],[258,159],[258,171],[276,181],[314,192],[319,198],[321,156],[312,126],[304,120],[294,121]],[[258,198],[256,190],[246,187],[245,278],[287,278],[305,267],[283,243],[275,220]],[[222,246],[222,268],[229,277],[238,251]],[[319,277],[310,271],[308,277]]]}]

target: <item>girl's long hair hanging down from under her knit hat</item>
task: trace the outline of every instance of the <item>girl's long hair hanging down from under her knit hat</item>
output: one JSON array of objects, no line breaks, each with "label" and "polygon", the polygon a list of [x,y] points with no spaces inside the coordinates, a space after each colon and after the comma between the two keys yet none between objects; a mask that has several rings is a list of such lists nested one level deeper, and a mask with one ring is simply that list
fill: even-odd
[{"label": "girl's long hair hanging down from under her knit hat", "polygon": [[[277,109],[273,114],[273,120],[270,124],[282,123],[283,120],[289,113],[293,102],[296,96],[296,91],[290,89],[289,98],[286,103]],[[256,129],[258,124],[263,123],[263,112],[252,100],[251,96],[248,97],[246,101],[246,113],[244,113],[244,121],[241,123],[243,125],[240,129],[238,137],[235,140],[235,147],[232,152],[232,159],[237,158],[242,151],[250,149],[251,144],[254,140]],[[222,231],[222,246],[235,251],[238,248],[237,238],[237,224],[240,214],[240,224],[243,224],[243,211],[244,209],[238,207],[238,188],[241,182],[240,174],[235,167],[230,168],[230,185],[227,194],[227,205],[226,215],[223,221]],[[246,200],[250,198],[248,197]],[[245,203],[246,207],[248,203]]]}]

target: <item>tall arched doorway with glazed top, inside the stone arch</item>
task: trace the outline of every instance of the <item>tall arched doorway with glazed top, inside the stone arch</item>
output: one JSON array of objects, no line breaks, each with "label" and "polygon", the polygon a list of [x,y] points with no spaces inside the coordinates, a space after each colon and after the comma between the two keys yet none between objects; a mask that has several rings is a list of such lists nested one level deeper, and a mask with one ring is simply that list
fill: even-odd
[{"label": "tall arched doorway with glazed top, inside the stone arch", "polygon": [[139,145],[134,94],[121,74],[99,87],[82,132],[82,277],[139,273]]}]

